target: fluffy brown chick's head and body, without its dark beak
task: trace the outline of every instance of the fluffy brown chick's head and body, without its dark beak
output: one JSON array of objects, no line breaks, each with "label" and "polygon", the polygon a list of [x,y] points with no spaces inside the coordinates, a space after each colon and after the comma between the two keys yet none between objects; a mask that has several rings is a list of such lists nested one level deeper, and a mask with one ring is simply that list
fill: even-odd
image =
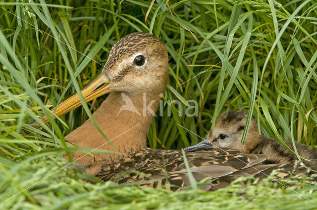
[{"label": "fluffy brown chick's head and body, without its dark beak", "polygon": [[[289,151],[278,140],[260,135],[258,123],[252,118],[249,132],[244,144],[241,144],[242,134],[245,128],[247,113],[245,111],[232,111],[218,117],[215,126],[208,134],[208,140],[223,149],[232,149],[251,154],[267,155],[267,160],[273,164],[288,164],[298,160],[297,156]],[[285,144],[294,150],[291,141]],[[307,167],[317,170],[317,150],[304,144],[295,142],[297,151],[304,159]],[[307,161],[308,159],[310,161]]]}]

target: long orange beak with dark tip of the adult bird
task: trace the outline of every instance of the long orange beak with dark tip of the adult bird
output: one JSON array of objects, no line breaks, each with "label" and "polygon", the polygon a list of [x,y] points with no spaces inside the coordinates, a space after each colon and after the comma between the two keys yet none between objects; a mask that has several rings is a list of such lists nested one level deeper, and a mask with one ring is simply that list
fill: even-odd
[{"label": "long orange beak with dark tip of the adult bird", "polygon": [[[85,101],[88,102],[110,92],[111,90],[109,90],[109,87],[112,84],[114,83],[110,82],[106,75],[101,74],[98,78],[96,78],[96,80],[94,80],[91,84],[84,88],[81,91],[81,94],[83,95]],[[81,104],[82,103],[79,99],[79,95],[76,93],[51,111],[56,116],[61,116],[81,106]],[[47,122],[48,118],[45,116],[42,120],[44,122]]]}]

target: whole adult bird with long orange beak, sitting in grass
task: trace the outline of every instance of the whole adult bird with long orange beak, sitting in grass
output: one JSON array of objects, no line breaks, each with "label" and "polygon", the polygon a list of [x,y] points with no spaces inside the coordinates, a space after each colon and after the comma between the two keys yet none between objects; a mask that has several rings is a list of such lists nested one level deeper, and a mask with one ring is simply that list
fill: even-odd
[{"label": "whole adult bird with long orange beak, sitting in grass", "polygon": [[[82,165],[87,173],[104,180],[143,181],[154,186],[167,184],[163,181],[167,175],[169,184],[189,185],[181,151],[147,148],[147,133],[167,79],[167,50],[155,36],[136,32],[116,42],[100,76],[81,92],[85,101],[109,93],[93,117],[115,149],[91,120],[70,132],[65,139],[78,147],[98,148],[122,155],[93,153],[92,157],[71,152],[74,161]],[[52,111],[60,116],[80,105],[79,96],[75,94]],[[196,181],[221,177],[205,185],[206,190],[225,186],[239,176],[261,174],[263,171],[268,173],[279,167],[262,166],[265,161],[263,155],[241,155],[221,150],[189,153],[187,158]],[[128,173],[120,176],[127,170],[138,170],[143,175]],[[145,178],[146,175],[156,182]]]}]

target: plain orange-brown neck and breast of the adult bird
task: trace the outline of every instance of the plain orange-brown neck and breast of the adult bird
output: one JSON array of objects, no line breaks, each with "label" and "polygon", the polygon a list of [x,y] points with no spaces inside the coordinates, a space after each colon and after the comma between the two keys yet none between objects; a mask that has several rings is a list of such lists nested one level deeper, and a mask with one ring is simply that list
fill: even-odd
[{"label": "plain orange-brown neck and breast of the adult bird", "polygon": [[[91,120],[69,133],[65,139],[78,147],[98,148],[122,153],[123,156],[134,153],[147,147],[146,138],[149,126],[152,123],[159,99],[163,90],[151,92],[110,92],[100,108],[94,112],[93,117],[98,126],[106,134],[114,148],[97,130]],[[85,156],[79,152],[72,153],[73,159],[86,169],[96,174],[102,163],[115,163],[122,155],[93,153],[94,157]],[[97,169],[96,169],[97,165]]]}]

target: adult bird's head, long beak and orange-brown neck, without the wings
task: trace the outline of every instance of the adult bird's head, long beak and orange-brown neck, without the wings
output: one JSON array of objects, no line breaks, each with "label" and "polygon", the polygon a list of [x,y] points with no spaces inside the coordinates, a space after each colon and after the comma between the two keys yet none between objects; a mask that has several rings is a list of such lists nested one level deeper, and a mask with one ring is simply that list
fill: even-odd
[{"label": "adult bird's head, long beak and orange-brown neck, without the wings", "polygon": [[[82,90],[85,101],[109,93],[93,117],[111,141],[97,130],[92,121],[70,132],[65,139],[78,147],[98,148],[131,154],[147,147],[146,136],[159,106],[168,78],[168,55],[162,42],[149,33],[136,32],[116,42],[100,76]],[[53,112],[57,116],[81,105],[73,95]],[[72,152],[76,162],[90,174],[101,170],[103,163],[115,163],[122,156]]]}]

